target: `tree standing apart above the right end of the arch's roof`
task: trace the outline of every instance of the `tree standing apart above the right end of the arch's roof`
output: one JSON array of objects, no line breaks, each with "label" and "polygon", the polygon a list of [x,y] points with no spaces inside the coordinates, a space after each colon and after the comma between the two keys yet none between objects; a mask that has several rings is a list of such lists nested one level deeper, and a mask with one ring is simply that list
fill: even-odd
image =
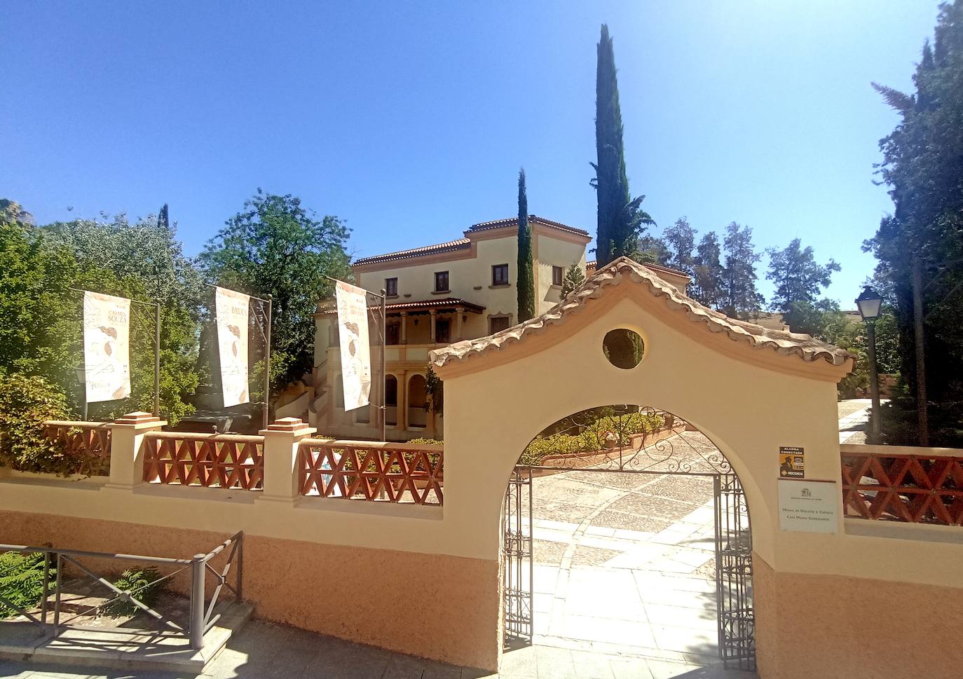
[{"label": "tree standing apart above the right end of the arch's roof", "polygon": [[794,332],[806,332],[799,329],[806,316],[804,310],[815,308],[817,295],[829,285],[833,272],[840,271],[840,265],[832,259],[827,264],[818,263],[813,248],[802,248],[798,238],[786,248],[766,251],[769,255],[766,277],[775,284],[769,306],[783,314],[783,322]]}]

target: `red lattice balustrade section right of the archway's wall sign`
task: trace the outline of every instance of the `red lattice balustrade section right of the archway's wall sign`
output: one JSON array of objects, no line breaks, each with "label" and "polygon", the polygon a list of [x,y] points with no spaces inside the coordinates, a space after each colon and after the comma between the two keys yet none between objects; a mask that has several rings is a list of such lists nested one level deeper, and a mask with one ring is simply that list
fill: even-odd
[{"label": "red lattice balustrade section right of the archway's wall sign", "polygon": [[840,448],[847,516],[963,525],[963,450]]}]

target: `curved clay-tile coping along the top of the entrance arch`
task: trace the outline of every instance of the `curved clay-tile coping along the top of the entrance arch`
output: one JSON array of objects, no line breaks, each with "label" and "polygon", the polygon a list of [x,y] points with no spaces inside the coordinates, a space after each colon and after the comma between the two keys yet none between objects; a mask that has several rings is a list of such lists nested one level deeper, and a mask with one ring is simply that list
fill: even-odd
[{"label": "curved clay-tile coping along the top of the entrance arch", "polygon": [[745,342],[753,349],[772,349],[783,355],[796,355],[807,362],[821,359],[836,366],[843,365],[852,357],[851,353],[821,342],[811,335],[772,330],[729,318],[686,297],[638,262],[628,257],[619,257],[590,276],[568,297],[541,316],[487,337],[456,342],[435,350],[429,353],[429,360],[438,367],[455,361],[465,361],[477,354],[502,350],[515,342],[523,341],[526,335],[544,332],[549,326],[559,326],[573,313],[580,311],[588,300],[599,299],[605,295],[607,288],[619,284],[626,276],[632,282],[646,285],[652,295],[663,298],[673,311],[685,313],[690,322],[703,324],[710,332],[724,332],[729,339]]}]

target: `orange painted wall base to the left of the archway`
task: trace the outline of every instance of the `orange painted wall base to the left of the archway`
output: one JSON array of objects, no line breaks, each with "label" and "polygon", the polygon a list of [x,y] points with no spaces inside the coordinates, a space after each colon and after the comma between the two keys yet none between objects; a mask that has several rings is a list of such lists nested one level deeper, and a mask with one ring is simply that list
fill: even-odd
[{"label": "orange painted wall base to the left of the archway", "polygon": [[[0,542],[190,558],[228,535],[0,511]],[[494,670],[498,562],[245,535],[255,616],[393,651]]]}]

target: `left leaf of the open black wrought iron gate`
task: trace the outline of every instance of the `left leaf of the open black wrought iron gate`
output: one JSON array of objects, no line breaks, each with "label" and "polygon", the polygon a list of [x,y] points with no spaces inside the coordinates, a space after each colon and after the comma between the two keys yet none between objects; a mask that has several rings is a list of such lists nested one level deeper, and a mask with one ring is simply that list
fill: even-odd
[{"label": "left leaf of the open black wrought iron gate", "polygon": [[505,493],[503,517],[505,643],[531,643],[534,635],[532,467],[516,466],[512,471]]}]

